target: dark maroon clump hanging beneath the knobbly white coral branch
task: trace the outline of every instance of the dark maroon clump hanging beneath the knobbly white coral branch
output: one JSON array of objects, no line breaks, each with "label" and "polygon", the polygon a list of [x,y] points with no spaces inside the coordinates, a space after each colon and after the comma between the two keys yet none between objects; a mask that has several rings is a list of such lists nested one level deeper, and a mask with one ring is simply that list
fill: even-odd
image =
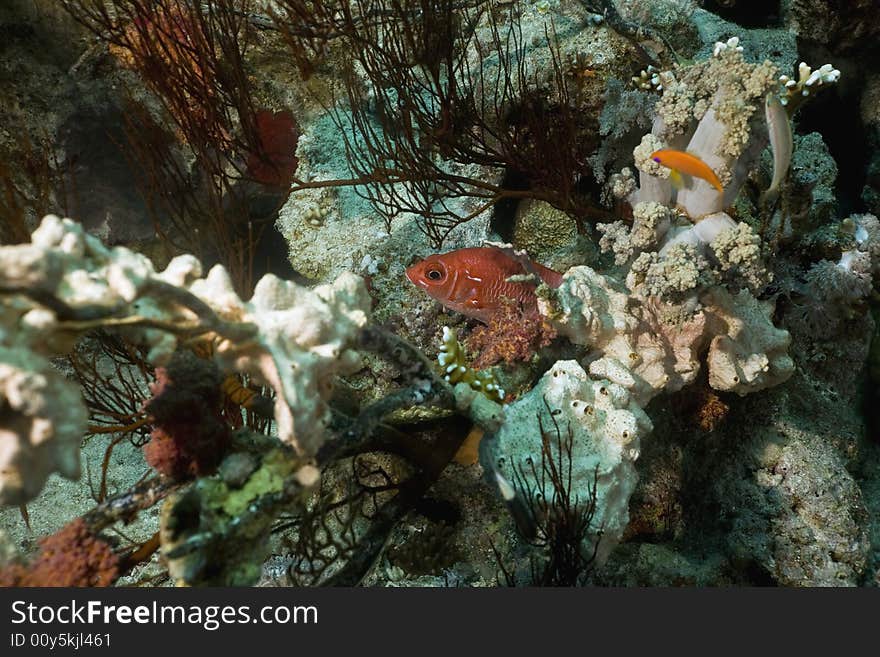
[{"label": "dark maroon clump hanging beneath the knobbly white coral branch", "polygon": [[145,406],[154,428],[144,456],[159,473],[186,479],[217,468],[230,440],[220,383],[214,364],[190,352],[177,352],[156,368]]}]

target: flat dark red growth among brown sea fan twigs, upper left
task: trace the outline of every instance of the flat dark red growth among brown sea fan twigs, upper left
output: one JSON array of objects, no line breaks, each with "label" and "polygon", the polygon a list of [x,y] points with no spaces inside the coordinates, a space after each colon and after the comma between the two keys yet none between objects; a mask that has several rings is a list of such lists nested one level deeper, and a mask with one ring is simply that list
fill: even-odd
[{"label": "flat dark red growth among brown sea fan twigs, upper left", "polygon": [[259,151],[249,153],[247,175],[263,185],[289,185],[296,173],[299,126],[288,111],[260,110],[256,114]]}]

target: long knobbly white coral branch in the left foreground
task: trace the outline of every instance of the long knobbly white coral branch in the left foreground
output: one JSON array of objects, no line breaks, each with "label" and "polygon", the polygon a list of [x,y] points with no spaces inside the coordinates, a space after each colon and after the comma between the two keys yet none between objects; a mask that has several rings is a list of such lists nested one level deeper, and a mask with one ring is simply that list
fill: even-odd
[{"label": "long knobbly white coral branch in the left foreground", "polygon": [[[35,359],[25,362],[45,377],[41,385],[49,386],[47,394],[51,389],[70,402],[63,407],[64,426],[81,433],[84,420],[76,418],[84,417],[82,402],[74,403],[57,385],[52,389],[53,379],[39,359],[67,353],[95,328],[123,332],[149,347],[149,358],[157,363],[170,356],[179,339],[208,336],[221,368],[273,388],[278,436],[298,452],[313,454],[324,437],[332,377],[357,364],[349,347],[367,321],[370,302],[363,281],[343,274],[332,285],[308,289],[266,275],[251,299],[242,301],[223,267],[201,275],[192,256],[174,258],[165,271],[156,272],[145,256],[107,248],[76,222],[47,216],[30,244],[0,247],[0,348]],[[0,377],[6,394],[21,366]],[[31,386],[34,394],[43,388]],[[23,431],[28,407],[7,401],[5,408],[4,427]],[[39,412],[33,411],[34,417],[41,417]],[[57,426],[40,429],[46,440],[69,440],[77,432],[58,424],[63,418],[47,417]],[[24,453],[24,441],[31,438],[19,429],[8,430],[18,436],[16,449]],[[76,472],[69,462],[59,461],[58,467]],[[42,470],[23,476],[45,478]]]}]

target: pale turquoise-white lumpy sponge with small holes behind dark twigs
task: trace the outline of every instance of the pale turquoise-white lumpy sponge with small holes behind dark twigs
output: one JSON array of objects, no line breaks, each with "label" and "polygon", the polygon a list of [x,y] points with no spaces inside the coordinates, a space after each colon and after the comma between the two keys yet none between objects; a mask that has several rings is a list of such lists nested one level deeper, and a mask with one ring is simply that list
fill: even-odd
[{"label": "pale turquoise-white lumpy sponge with small holes behind dark twigs", "polygon": [[[509,404],[505,414],[495,436],[494,462],[505,479],[526,478],[533,494],[552,500],[552,484],[540,476],[542,458],[561,462],[566,472],[570,459],[570,490],[585,505],[596,478],[596,506],[582,548],[588,555],[595,550],[597,562],[603,563],[629,522],[629,498],[638,481],[633,462],[642,437],[651,431],[650,419],[623,387],[591,379],[570,360],[557,362],[531,391]],[[546,457],[542,434],[549,441]],[[535,472],[538,477],[533,479]]]}]

